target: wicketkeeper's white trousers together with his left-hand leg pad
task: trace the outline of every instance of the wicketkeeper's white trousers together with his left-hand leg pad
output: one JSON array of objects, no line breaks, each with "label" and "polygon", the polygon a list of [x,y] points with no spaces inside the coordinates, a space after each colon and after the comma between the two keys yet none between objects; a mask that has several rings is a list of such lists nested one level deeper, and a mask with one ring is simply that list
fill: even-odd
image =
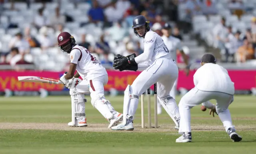
[{"label": "wicketkeeper's white trousers together with his left-hand leg pad", "polygon": [[151,85],[157,83],[158,97],[164,100],[170,97],[170,90],[177,77],[178,67],[172,59],[156,59],[152,65],[142,71],[124,92],[124,124],[126,124],[126,118],[131,120],[134,118],[138,108],[138,96],[144,93]]}]

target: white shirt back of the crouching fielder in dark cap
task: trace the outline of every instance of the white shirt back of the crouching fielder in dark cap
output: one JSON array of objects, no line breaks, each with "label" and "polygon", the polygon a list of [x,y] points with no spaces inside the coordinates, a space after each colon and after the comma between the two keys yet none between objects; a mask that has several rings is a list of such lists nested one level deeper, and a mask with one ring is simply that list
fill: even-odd
[{"label": "white shirt back of the crouching fielder in dark cap", "polygon": [[234,83],[222,66],[206,63],[194,74],[194,85],[201,91],[218,91],[234,95]]}]

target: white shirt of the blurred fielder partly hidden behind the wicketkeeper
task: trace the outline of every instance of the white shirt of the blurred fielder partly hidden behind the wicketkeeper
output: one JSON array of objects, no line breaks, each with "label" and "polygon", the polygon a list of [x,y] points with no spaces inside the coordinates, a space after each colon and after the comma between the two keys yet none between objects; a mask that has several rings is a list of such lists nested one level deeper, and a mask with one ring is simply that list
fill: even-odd
[{"label": "white shirt of the blurred fielder partly hidden behind the wicketkeeper", "polygon": [[173,36],[162,36],[162,39],[164,41],[164,44],[166,45],[167,49],[170,51],[172,59],[176,61],[177,59],[177,49],[182,50],[181,41],[178,38],[175,38]]}]

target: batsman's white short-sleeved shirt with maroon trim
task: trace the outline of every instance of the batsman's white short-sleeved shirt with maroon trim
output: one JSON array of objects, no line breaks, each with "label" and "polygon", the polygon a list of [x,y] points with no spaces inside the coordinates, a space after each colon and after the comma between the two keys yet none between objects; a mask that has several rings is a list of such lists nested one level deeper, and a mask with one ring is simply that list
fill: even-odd
[{"label": "batsman's white short-sleeved shirt with maroon trim", "polygon": [[[81,59],[78,61],[80,56]],[[75,45],[72,48],[70,63],[77,64],[76,70],[82,79],[92,80],[96,77],[108,75],[106,69],[99,63],[96,57],[88,49],[79,45]]]}]

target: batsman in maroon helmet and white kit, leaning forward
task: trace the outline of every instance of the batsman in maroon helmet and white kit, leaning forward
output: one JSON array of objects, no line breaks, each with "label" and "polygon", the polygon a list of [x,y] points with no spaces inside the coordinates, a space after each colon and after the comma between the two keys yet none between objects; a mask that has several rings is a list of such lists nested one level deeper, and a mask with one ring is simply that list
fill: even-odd
[{"label": "batsman in maroon helmet and white kit, leaning forward", "polygon": [[[104,85],[108,83],[106,69],[88,49],[77,45],[68,32],[58,35],[58,46],[62,52],[70,55],[70,69],[60,77],[60,81],[70,89],[72,101],[72,122],[68,125],[87,126],[84,94],[90,93],[92,106],[110,122],[108,128],[116,126],[123,115],[104,96]],[[83,80],[78,78],[80,76]]]}]

